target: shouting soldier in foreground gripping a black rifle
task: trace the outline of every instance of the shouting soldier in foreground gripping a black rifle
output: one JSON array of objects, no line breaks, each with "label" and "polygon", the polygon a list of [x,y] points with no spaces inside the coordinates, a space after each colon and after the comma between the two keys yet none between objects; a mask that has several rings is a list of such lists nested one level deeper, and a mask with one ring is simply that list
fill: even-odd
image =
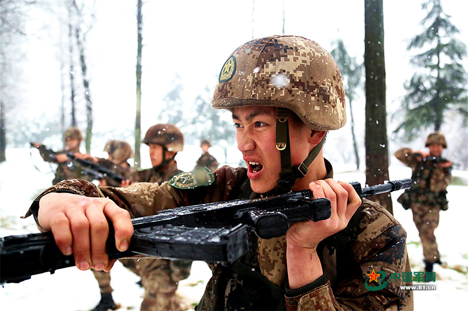
[{"label": "shouting soldier in foreground gripping a black rifle", "polygon": [[[380,205],[361,201],[351,185],[334,181],[332,165],[323,157],[326,131],[346,121],[343,83],[330,54],[302,37],[260,38],[234,51],[218,81],[211,105],[233,113],[247,168],[224,166],[198,186],[199,178],[192,178],[195,185],[182,182],[191,173],[162,185],[126,188],[65,181],[41,194],[27,215],[37,215],[40,205],[39,228],[57,231],[61,225],[52,222],[54,217],[67,213],[65,223],[78,221],[67,211],[86,200],[86,210],[106,209],[116,228],[116,247],[125,250],[133,232],[128,214],[310,189],[315,197],[330,199],[331,218],[295,223],[278,238],[251,234],[248,254],[229,267],[211,264],[213,277],[197,310],[412,310],[412,292],[400,288],[401,279],[389,280],[393,273],[411,271],[404,229]],[[63,200],[67,207],[59,204]],[[89,226],[95,222],[89,220]],[[69,230],[55,238],[64,254],[71,253],[73,243],[103,245],[105,240]],[[80,250],[75,253],[79,269],[111,268],[103,246]],[[368,289],[373,270],[386,273],[383,290]]]}]

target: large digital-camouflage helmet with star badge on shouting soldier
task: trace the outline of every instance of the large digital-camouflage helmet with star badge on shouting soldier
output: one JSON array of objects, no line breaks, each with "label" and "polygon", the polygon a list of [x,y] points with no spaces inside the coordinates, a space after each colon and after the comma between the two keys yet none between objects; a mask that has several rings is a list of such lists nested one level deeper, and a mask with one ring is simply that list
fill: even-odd
[{"label": "large digital-camouflage helmet with star badge on shouting soldier", "polygon": [[299,36],[274,35],[237,48],[221,69],[211,106],[287,108],[319,131],[346,123],[336,62],[320,45]]}]

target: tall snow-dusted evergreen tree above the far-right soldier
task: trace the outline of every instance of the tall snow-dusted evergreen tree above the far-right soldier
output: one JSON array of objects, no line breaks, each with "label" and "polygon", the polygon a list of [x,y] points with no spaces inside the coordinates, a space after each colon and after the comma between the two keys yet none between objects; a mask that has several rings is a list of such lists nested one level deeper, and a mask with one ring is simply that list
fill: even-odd
[{"label": "tall snow-dusted evergreen tree above the far-right soldier", "polygon": [[440,0],[428,0],[422,8],[428,11],[421,21],[424,29],[409,41],[407,47],[408,51],[419,51],[410,63],[421,70],[404,85],[407,91],[402,103],[405,114],[395,130],[403,130],[408,139],[430,126],[439,131],[446,111],[461,113],[465,124],[468,118],[467,74],[462,65],[467,48],[455,38],[460,30],[443,12]]}]

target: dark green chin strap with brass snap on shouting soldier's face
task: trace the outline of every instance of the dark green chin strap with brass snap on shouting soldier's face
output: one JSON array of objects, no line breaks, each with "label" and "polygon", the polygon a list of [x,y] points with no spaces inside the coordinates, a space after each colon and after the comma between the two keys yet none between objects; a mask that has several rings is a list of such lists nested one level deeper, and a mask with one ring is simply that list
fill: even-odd
[{"label": "dark green chin strap with brass snap on shouting soldier's face", "polygon": [[281,173],[277,180],[278,185],[262,196],[280,195],[291,191],[296,179],[307,174],[308,167],[314,161],[322,149],[324,140],[322,139],[309,153],[307,158],[298,166],[291,165],[291,149],[289,141],[289,113],[285,108],[276,108],[276,149],[281,156]]}]

